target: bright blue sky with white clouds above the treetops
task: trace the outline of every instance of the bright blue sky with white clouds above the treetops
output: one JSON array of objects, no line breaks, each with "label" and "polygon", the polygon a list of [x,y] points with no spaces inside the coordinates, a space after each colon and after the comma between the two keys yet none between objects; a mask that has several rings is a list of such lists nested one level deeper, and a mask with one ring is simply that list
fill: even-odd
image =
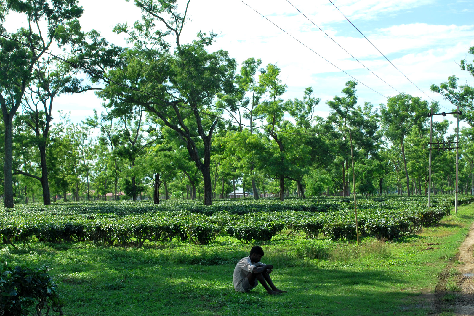
[{"label": "bright blue sky with white clouds above the treetops", "polygon": [[[329,0],[244,1],[248,6],[242,0],[191,0],[189,20],[180,42],[192,41],[199,31],[212,31],[219,35],[210,50],[227,50],[239,64],[250,57],[260,58],[263,65],[276,64],[288,86],[283,99],[302,98],[304,89],[312,87],[314,96],[321,99],[316,115],[326,117],[326,101],[341,95],[346,81],[352,79],[328,61],[357,79],[359,104],[371,102],[375,108],[386,103],[387,97],[405,92],[430,102],[439,101],[441,111],[448,112],[452,105],[431,92],[429,86],[439,85],[452,75],[459,77],[460,83],[474,85],[474,78],[458,65],[461,59],[474,59],[467,53],[474,46],[474,0],[332,0],[422,91],[393,67]],[[178,3],[185,8],[185,1]],[[133,0],[79,0],[79,5],[84,9],[80,19],[83,29],[95,29],[114,44],[126,45],[123,35],[111,31],[113,26],[125,22],[131,25],[141,17]],[[295,7],[388,84],[355,61]],[[4,24],[7,31],[18,28],[19,20],[11,15]],[[60,52],[52,49],[51,53]],[[55,109],[70,112],[71,119],[80,122],[91,116],[94,108],[102,111],[102,102],[93,92],[86,92],[57,98]]]}]

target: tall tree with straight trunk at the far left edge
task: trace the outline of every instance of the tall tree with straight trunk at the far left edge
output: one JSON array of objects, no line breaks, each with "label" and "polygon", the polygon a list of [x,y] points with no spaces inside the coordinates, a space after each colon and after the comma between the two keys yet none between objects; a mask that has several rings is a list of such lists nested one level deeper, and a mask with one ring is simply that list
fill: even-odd
[{"label": "tall tree with straight trunk at the far left edge", "polygon": [[[8,33],[14,40],[0,39],[0,106],[5,128],[4,204],[13,207],[12,183],[12,122],[21,105],[25,90],[32,80],[36,62],[51,44],[69,41],[65,25],[82,15],[77,0],[5,0],[2,11],[11,11],[25,18],[27,27]],[[46,29],[42,26],[46,25]],[[23,46],[15,40],[29,45]],[[38,50],[33,47],[38,48]]]}]

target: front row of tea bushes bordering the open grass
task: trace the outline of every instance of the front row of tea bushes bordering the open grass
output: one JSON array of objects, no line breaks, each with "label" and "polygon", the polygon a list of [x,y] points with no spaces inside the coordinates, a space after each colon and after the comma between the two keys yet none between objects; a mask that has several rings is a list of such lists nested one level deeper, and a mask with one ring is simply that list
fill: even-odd
[{"label": "front row of tea bushes bordering the open grass", "polygon": [[[449,214],[451,201],[433,201],[427,209],[424,202],[393,199],[387,202],[368,200],[361,202],[358,228],[363,236],[391,240],[409,234],[422,226],[435,225]],[[271,200],[270,200],[271,201]],[[408,202],[408,203],[407,203]],[[416,203],[418,202],[418,203]],[[262,204],[266,205],[266,201]],[[208,244],[219,234],[225,233],[242,242],[270,240],[285,228],[302,231],[308,238],[320,234],[334,240],[354,239],[355,216],[350,202],[338,202],[347,207],[325,212],[311,211],[254,211],[237,214],[216,211],[211,215],[192,211],[124,211],[143,205],[123,203],[123,208],[113,212],[86,212],[81,205],[55,205],[51,207],[18,207],[5,210],[0,217],[0,236],[3,243],[39,241],[92,241],[106,245],[143,246],[145,241],[169,242],[178,237],[198,245]],[[79,204],[79,203],[78,203]],[[93,204],[93,203],[90,203]],[[101,203],[96,207],[104,208]],[[122,203],[117,203],[122,205]],[[145,207],[153,204],[144,204]],[[71,207],[69,207],[71,206]],[[103,209],[101,209],[103,210]],[[95,210],[97,211],[97,210]]]}]

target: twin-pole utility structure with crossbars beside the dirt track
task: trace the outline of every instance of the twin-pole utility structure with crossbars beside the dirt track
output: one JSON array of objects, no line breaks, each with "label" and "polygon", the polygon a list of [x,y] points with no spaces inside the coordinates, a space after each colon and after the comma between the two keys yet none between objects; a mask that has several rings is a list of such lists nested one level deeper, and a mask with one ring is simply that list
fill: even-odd
[{"label": "twin-pole utility structure with crossbars beside the dirt track", "polygon": [[[451,141],[448,141],[446,143],[445,140],[443,140],[443,142],[440,142],[438,140],[438,142],[433,142],[433,140],[431,139],[432,138],[432,135],[433,135],[433,115],[443,115],[443,116],[446,116],[446,114],[456,114],[456,141],[454,142],[451,142]],[[446,112],[441,112],[441,113],[433,113],[433,109],[431,109],[431,112],[428,113],[428,117],[431,118],[431,125],[430,125],[430,131],[429,131],[429,166],[428,166],[428,207],[431,206],[431,150],[433,149],[437,149],[438,151],[440,149],[443,149],[443,150],[451,150],[451,149],[456,149],[456,189],[455,189],[455,202],[454,202],[454,206],[455,206],[455,210],[456,210],[456,214],[457,214],[457,183],[458,183],[458,162],[459,162],[459,115],[462,115],[463,113],[461,111],[459,111],[459,105],[457,106],[457,111],[456,112],[449,112],[449,113],[446,113]],[[447,147],[446,147],[446,144],[447,144]],[[456,147],[451,147],[451,144],[453,145],[456,145]],[[437,145],[436,147],[431,147],[432,145]],[[442,145],[442,147],[440,147]]]}]

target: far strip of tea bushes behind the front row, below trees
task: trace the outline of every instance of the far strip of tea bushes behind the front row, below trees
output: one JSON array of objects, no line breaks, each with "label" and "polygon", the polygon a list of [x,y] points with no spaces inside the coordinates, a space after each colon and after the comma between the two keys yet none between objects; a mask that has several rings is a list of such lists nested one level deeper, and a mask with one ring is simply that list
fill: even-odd
[{"label": "far strip of tea bushes behind the front row, below trees", "polygon": [[[474,202],[474,196],[461,195],[458,204]],[[454,205],[452,196],[433,196],[433,205]],[[371,199],[358,199],[357,208],[397,210],[406,207],[422,207],[428,205],[428,197],[425,196],[382,196]],[[281,202],[277,199],[251,198],[215,200],[213,205],[202,205],[202,201],[191,200],[168,200],[160,204],[151,201],[81,201],[81,202],[55,202],[50,206],[38,204],[18,204],[14,211],[26,212],[57,212],[58,214],[115,214],[125,216],[130,214],[146,214],[166,211],[188,211],[212,215],[216,212],[227,211],[232,214],[247,214],[255,212],[274,211],[303,211],[303,212],[331,212],[354,209],[354,199],[349,197],[318,197],[308,199],[286,199]],[[9,210],[7,210],[9,211]]]}]

